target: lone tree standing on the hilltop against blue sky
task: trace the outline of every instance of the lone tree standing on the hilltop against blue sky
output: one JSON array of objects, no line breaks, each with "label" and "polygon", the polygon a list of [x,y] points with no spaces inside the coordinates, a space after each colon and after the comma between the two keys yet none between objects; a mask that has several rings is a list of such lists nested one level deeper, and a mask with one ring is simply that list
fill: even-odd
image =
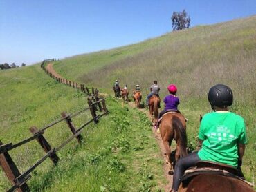
[{"label": "lone tree standing on the hilltop against blue sky", "polygon": [[173,30],[182,30],[190,27],[190,16],[185,10],[182,12],[173,12],[171,19]]}]

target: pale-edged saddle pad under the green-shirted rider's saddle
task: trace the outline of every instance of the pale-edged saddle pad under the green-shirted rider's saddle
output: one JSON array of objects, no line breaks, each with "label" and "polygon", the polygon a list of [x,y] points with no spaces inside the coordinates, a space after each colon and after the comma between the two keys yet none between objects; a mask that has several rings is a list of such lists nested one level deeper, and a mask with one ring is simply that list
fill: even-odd
[{"label": "pale-edged saddle pad under the green-shirted rider's saddle", "polygon": [[223,175],[226,177],[233,177],[237,180],[241,180],[243,182],[246,182],[246,184],[253,186],[252,183],[244,180],[242,177],[238,177],[236,175],[233,175],[232,173],[229,173],[226,170],[221,170],[221,169],[212,169],[209,167],[203,167],[203,168],[190,168],[188,170],[185,171],[185,174],[183,175],[183,177],[181,177],[181,182],[185,182],[189,179],[192,179],[192,177],[196,176],[196,175],[201,175],[201,174],[210,174],[210,175]]}]

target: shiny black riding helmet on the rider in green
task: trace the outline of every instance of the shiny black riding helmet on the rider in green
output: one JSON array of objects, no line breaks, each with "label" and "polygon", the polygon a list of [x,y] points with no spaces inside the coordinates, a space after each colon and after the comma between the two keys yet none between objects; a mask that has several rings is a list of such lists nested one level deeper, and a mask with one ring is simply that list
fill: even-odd
[{"label": "shiny black riding helmet on the rider in green", "polygon": [[208,101],[213,106],[226,107],[233,103],[232,90],[223,84],[217,84],[210,88],[208,93]]}]

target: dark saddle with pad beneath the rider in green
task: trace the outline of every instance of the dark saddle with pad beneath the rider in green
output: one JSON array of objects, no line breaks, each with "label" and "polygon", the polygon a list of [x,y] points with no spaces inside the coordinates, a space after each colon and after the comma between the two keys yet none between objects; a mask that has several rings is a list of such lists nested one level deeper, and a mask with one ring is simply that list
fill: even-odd
[{"label": "dark saddle with pad beneath the rider in green", "polygon": [[196,167],[192,167],[186,170],[183,177],[181,177],[181,182],[183,182],[184,184],[188,184],[193,177],[201,174],[223,175],[226,177],[233,177],[237,180],[246,182],[250,186],[253,186],[253,184],[246,181],[244,177],[241,177],[241,173],[235,167],[210,161],[200,161],[196,164]]}]

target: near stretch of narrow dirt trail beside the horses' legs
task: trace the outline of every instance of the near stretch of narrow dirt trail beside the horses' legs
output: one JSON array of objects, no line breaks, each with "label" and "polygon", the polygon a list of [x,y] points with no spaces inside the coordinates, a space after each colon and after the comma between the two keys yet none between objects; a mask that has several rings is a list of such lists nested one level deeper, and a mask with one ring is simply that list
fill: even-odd
[{"label": "near stretch of narrow dirt trail beside the horses' legs", "polygon": [[[134,102],[129,102],[129,106],[136,108]],[[147,115],[147,117],[149,117],[149,119],[150,119],[149,111],[146,108],[139,108],[138,110],[145,113]],[[156,129],[153,126],[152,126],[152,132],[153,132],[154,138],[158,142],[158,146],[161,151],[161,156],[163,157],[163,160],[164,160],[163,161],[163,171],[165,174],[165,178],[168,181],[168,184],[166,186],[164,186],[164,189],[165,189],[165,191],[170,191],[170,189],[172,187],[172,175],[170,175],[168,173],[170,171],[170,169],[169,169],[169,166],[165,163],[167,161],[167,158],[165,155],[165,147],[163,146],[163,141],[162,141],[161,135],[156,132]]]}]

